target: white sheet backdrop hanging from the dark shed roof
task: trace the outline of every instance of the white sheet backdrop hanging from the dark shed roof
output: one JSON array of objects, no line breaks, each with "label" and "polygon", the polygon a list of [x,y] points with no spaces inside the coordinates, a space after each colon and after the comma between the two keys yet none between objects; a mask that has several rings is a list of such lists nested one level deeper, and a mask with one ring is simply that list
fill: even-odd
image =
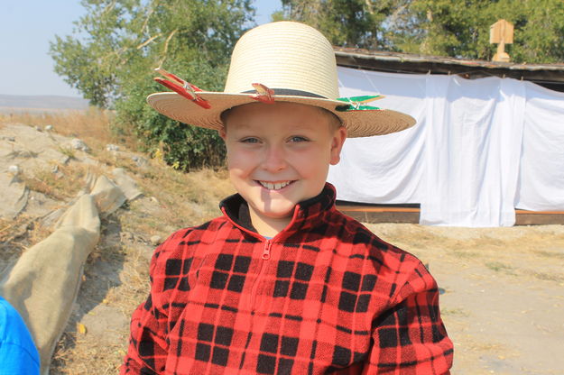
[{"label": "white sheet backdrop hanging from the dark shed roof", "polygon": [[338,68],[341,96],[411,114],[406,131],[348,139],[337,198],[421,203],[421,224],[510,226],[514,207],[564,210],[564,94],[511,78]]}]

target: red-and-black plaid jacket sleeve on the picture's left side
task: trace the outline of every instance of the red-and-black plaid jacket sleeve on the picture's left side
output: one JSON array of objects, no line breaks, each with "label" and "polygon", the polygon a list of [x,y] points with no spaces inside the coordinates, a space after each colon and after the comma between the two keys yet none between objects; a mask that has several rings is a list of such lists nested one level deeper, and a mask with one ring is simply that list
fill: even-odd
[{"label": "red-and-black plaid jacket sleeve on the picture's left side", "polygon": [[165,367],[168,345],[166,343],[167,316],[159,306],[162,288],[162,249],[158,247],[151,260],[151,292],[139,305],[131,319],[129,347],[120,374],[157,374]]}]

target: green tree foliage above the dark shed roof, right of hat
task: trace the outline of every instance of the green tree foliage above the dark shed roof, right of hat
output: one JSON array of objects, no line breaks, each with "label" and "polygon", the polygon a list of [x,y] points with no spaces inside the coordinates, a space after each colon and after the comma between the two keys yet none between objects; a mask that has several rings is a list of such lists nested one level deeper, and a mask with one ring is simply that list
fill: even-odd
[{"label": "green tree foliage above the dark shed roof, right of hat", "polygon": [[490,25],[514,24],[515,62],[564,61],[562,0],[282,0],[273,20],[308,23],[334,45],[491,59]]}]

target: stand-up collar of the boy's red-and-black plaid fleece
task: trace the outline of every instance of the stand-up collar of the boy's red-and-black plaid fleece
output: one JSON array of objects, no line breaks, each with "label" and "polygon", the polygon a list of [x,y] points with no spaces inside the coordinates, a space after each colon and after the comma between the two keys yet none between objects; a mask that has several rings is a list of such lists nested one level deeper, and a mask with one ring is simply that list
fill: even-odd
[{"label": "stand-up collar of the boy's red-and-black plaid fleece", "polygon": [[[281,233],[276,235],[276,240],[288,238],[294,233],[300,231],[308,231],[311,228],[322,224],[323,218],[332,209],[335,209],[335,199],[337,191],[333,185],[328,182],[316,197],[311,197],[301,201],[294,207],[294,212],[290,224],[284,228]],[[239,194],[234,194],[222,200],[219,208],[226,216],[227,220],[236,225],[245,233],[250,233],[257,238],[263,238],[251,224],[251,215],[249,214],[249,206],[245,199]]]}]

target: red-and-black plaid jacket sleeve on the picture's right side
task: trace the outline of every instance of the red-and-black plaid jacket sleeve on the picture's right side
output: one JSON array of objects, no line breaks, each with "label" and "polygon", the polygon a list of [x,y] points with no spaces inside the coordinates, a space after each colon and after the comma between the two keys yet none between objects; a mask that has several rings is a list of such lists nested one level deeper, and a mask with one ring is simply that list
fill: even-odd
[{"label": "red-and-black plaid jacket sleeve on the picture's right side", "polygon": [[453,344],[440,319],[439,289],[421,262],[416,264],[391,307],[374,320],[363,374],[450,373]]}]

